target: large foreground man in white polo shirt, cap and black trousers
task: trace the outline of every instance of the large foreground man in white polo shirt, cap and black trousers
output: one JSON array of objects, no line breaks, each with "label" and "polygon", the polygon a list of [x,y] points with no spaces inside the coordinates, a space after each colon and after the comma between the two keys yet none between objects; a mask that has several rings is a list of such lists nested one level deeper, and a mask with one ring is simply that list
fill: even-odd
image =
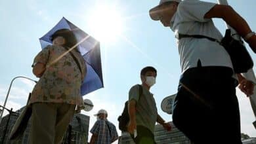
[{"label": "large foreground man in white polo shirt, cap and black trousers", "polygon": [[[161,0],[150,10],[153,20],[184,35],[221,41],[211,18],[222,18],[256,52],[256,36],[230,6],[198,0]],[[173,109],[173,123],[194,143],[242,143],[236,79],[230,56],[209,39],[177,39],[182,75]],[[241,75],[239,75],[241,77]],[[253,84],[243,92],[251,94]],[[226,142],[224,142],[226,141]]]}]

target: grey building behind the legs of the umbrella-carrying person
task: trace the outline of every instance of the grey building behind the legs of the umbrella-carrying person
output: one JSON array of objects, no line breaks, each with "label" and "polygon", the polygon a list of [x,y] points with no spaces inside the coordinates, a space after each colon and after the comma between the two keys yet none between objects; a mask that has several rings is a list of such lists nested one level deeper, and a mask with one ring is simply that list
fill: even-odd
[{"label": "grey building behind the legs of the umbrella-carrying person", "polygon": [[[30,131],[30,121],[22,137],[18,137],[10,141],[9,135],[12,130],[12,126],[16,122],[19,111],[16,113],[11,113],[3,117],[0,124],[0,143],[1,144],[27,144],[28,136]],[[62,144],[85,144],[88,141],[88,132],[89,132],[89,120],[90,117],[87,115],[82,115],[80,113],[75,114],[72,122],[68,126],[68,130],[64,136]]]}]

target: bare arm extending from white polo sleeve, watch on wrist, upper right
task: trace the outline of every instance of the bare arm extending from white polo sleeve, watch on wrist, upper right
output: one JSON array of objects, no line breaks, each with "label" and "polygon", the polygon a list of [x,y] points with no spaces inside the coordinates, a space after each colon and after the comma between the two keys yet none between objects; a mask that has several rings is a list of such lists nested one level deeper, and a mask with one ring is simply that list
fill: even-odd
[{"label": "bare arm extending from white polo sleeve, watch on wrist, upper right", "polygon": [[[251,28],[247,22],[232,7],[228,5],[215,5],[204,18],[222,18],[226,24],[233,27],[243,38],[251,33]],[[256,35],[253,35],[246,41],[253,52],[256,53]]]}]

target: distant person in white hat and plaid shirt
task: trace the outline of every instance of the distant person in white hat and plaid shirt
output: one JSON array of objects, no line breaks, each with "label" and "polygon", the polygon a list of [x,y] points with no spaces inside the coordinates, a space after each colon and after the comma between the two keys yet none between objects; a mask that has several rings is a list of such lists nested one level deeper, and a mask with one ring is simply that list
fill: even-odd
[{"label": "distant person in white hat and plaid shirt", "polygon": [[116,126],[108,121],[108,113],[104,109],[100,109],[95,114],[97,118],[95,125],[91,128],[91,141],[90,144],[110,144],[118,139]]}]

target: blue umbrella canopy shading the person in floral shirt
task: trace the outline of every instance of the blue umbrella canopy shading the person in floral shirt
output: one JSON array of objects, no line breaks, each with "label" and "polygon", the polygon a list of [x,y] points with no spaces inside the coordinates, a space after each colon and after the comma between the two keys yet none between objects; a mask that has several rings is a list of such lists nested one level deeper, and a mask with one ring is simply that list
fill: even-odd
[{"label": "blue umbrella canopy shading the person in floral shirt", "polygon": [[53,45],[51,42],[51,35],[53,35],[53,33],[58,29],[72,30],[77,42],[83,41],[86,37],[85,41],[77,46],[81,55],[83,56],[83,59],[85,60],[87,67],[87,74],[83,84],[81,85],[81,96],[102,88],[103,79],[100,58],[100,43],[63,17],[60,22],[56,24],[56,26],[54,26],[48,33],[39,39],[42,49],[47,45]]}]

